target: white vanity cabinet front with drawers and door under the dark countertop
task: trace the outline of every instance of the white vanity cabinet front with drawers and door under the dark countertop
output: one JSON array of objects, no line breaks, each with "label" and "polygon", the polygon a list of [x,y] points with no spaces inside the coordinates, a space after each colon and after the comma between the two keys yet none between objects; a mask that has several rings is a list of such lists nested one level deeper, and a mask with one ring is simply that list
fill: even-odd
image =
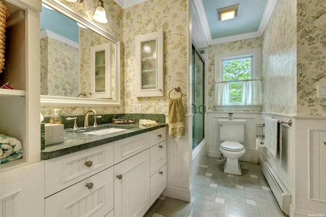
[{"label": "white vanity cabinet front with drawers and door under the dark countertop", "polygon": [[167,186],[166,163],[166,127],[44,160],[45,216],[143,216]]}]

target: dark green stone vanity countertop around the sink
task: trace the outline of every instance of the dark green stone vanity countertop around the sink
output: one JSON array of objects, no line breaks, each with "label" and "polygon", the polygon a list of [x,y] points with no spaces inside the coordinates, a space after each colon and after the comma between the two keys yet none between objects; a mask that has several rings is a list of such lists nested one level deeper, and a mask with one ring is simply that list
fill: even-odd
[{"label": "dark green stone vanity countertop around the sink", "polygon": [[[55,157],[60,157],[66,154],[74,153],[84,149],[92,148],[95,146],[111,143],[117,140],[131,137],[132,135],[141,134],[144,132],[152,131],[161,127],[166,127],[168,124],[159,123],[157,126],[143,126],[139,123],[135,124],[101,124],[98,127],[101,128],[123,128],[126,130],[113,132],[103,135],[85,134],[81,132],[74,132],[72,129],[65,129],[64,142],[45,146],[44,150],[41,150],[41,159],[47,160]],[[94,129],[90,127],[86,131]],[[83,127],[79,127],[80,131],[84,131]]]}]

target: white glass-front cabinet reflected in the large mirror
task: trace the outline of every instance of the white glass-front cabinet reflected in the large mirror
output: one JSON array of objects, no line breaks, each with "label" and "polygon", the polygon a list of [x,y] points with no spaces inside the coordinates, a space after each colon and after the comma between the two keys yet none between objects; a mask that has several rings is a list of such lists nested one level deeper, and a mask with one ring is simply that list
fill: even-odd
[{"label": "white glass-front cabinet reflected in the large mirror", "polygon": [[111,43],[91,47],[92,98],[112,99],[111,61]]}]

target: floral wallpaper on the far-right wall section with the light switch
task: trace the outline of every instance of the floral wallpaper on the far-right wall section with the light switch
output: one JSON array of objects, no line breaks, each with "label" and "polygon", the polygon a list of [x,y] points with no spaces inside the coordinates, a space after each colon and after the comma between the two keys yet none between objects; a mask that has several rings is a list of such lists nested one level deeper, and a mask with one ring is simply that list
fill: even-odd
[{"label": "floral wallpaper on the far-right wall section with the light switch", "polygon": [[297,115],[326,116],[326,99],[317,85],[326,84],[326,1],[297,1]]}]

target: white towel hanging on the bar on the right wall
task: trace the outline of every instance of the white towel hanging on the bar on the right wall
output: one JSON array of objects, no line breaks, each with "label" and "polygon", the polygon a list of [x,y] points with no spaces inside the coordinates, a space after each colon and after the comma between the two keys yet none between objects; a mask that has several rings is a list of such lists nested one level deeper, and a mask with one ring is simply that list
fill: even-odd
[{"label": "white towel hanging on the bar on the right wall", "polygon": [[265,118],[265,147],[276,157],[278,146],[278,124],[279,120],[275,118]]}]

